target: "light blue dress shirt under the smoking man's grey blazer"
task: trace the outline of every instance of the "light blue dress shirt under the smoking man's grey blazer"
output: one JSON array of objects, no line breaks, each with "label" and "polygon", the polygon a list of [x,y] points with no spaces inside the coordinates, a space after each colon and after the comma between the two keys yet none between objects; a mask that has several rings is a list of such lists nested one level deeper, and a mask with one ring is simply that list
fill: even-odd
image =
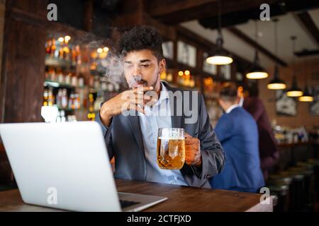
[{"label": "light blue dress shirt under the smoking man's grey blazer", "polygon": [[167,88],[161,83],[162,91],[155,105],[145,105],[145,114],[138,112],[147,162],[148,182],[179,184],[188,186],[179,169],[161,169],[157,165],[157,133],[159,128],[171,128],[172,119]]}]

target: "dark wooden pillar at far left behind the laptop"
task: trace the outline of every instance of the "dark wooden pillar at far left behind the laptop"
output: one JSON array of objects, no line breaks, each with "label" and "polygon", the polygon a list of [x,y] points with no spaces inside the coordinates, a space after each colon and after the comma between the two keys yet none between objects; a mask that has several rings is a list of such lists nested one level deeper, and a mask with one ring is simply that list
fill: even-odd
[{"label": "dark wooden pillar at far left behind the laptop", "polygon": [[[6,0],[0,73],[1,123],[42,121],[45,23],[46,0]],[[1,148],[0,168],[0,184],[9,182],[12,174]]]}]

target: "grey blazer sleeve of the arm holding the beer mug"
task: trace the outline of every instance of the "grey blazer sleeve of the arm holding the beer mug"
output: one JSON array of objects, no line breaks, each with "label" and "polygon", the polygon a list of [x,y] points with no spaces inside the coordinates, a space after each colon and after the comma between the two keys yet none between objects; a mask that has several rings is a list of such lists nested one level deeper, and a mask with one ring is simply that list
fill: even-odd
[{"label": "grey blazer sleeve of the arm holding the beer mug", "polygon": [[225,154],[216,133],[211,126],[203,96],[199,97],[199,132],[201,141],[202,167],[192,166],[196,176],[201,180],[207,180],[218,174],[225,165]]}]

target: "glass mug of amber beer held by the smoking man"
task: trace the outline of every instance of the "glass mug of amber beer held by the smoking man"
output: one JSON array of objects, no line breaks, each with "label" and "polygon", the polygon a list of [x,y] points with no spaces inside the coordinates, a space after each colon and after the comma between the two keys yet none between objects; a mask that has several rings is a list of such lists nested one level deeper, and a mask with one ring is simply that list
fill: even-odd
[{"label": "glass mug of amber beer held by the smoking man", "polygon": [[157,164],[161,169],[181,169],[185,162],[184,129],[159,128]]}]

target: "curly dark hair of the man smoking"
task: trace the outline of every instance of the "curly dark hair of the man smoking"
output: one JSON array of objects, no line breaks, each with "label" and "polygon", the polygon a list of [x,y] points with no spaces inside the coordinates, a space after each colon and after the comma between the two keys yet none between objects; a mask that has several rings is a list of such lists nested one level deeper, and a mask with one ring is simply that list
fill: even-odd
[{"label": "curly dark hair of the man smoking", "polygon": [[162,37],[159,32],[149,26],[136,26],[125,32],[120,40],[120,53],[149,49],[157,61],[163,59]]}]

